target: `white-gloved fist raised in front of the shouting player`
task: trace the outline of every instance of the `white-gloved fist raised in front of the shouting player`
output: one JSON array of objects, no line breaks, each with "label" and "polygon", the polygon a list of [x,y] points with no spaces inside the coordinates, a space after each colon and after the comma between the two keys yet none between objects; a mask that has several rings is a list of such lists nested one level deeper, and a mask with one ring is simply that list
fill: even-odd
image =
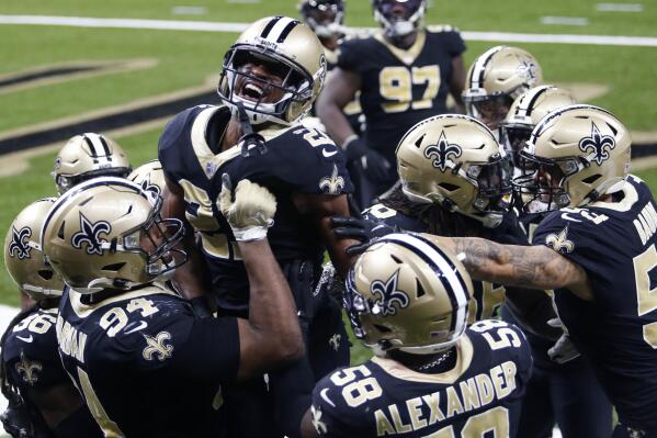
[{"label": "white-gloved fist raised in front of the shouting player", "polygon": [[236,240],[262,240],[267,237],[267,229],[274,224],[276,199],[269,190],[248,179],[239,181],[234,192],[230,177],[224,173],[219,209]]}]

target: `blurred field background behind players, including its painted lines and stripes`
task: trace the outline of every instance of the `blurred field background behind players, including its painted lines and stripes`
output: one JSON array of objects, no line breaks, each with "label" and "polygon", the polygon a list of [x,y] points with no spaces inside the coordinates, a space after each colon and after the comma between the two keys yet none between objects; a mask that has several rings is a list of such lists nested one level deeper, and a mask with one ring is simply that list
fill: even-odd
[{"label": "blurred field background behind players, including its painted lines and stripes", "polygon": [[[133,167],[156,158],[171,115],[217,102],[223,54],[243,24],[275,14],[296,16],[296,1],[0,3],[0,236],[26,204],[56,194],[55,153],[73,134],[113,137]],[[347,0],[346,16],[348,26],[375,25],[369,0]],[[490,46],[518,45],[547,83],[615,113],[633,132],[634,173],[657,190],[655,23],[657,0],[434,0],[427,14],[427,24],[462,31],[467,66]],[[18,303],[0,269],[0,304]],[[354,349],[354,361],[364,355]]]}]

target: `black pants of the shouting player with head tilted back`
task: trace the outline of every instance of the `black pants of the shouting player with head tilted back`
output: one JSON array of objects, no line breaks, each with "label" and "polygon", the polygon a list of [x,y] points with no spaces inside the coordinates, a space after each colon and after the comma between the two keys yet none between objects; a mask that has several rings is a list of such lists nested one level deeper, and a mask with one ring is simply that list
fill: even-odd
[{"label": "black pants of the shouting player with head tilted back", "polygon": [[326,291],[316,293],[319,269],[308,261],[283,263],[298,310],[305,357],[285,369],[226,390],[229,436],[234,438],[299,437],[315,383],[349,366],[349,340],[341,306]]}]

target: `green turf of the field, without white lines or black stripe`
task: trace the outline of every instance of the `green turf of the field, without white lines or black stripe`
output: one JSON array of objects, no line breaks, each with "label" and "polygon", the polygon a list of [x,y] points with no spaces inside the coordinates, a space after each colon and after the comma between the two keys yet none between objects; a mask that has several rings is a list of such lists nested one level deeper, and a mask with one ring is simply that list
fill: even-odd
[{"label": "green turf of the field, without white lines or black stripe", "polygon": [[[180,13],[181,5],[186,7],[182,11],[185,13]],[[521,0],[434,0],[427,22],[449,23],[464,32],[468,46],[467,65],[485,49],[505,43],[503,38],[495,42],[468,38],[472,32],[568,34],[579,35],[575,38],[579,41],[585,41],[586,35],[657,37],[657,4],[654,2],[646,2],[638,12],[601,11],[599,8],[591,0],[553,0],[550,4]],[[0,3],[0,23],[7,22],[10,15],[248,23],[273,14],[296,15],[296,1],[196,0],[192,4],[181,4],[175,0],[22,0]],[[542,24],[545,18],[566,18],[580,25]],[[374,26],[370,1],[348,0],[347,24]],[[180,90],[211,89],[223,54],[236,36],[236,33],[226,32],[0,24],[0,141],[36,126],[86,117],[107,108],[127,108],[135,101],[166,98]],[[539,58],[547,82],[567,85],[581,91],[582,96],[592,97],[588,100],[590,103],[610,109],[633,133],[637,133],[637,138],[649,139],[654,136],[652,133],[657,132],[657,106],[654,104],[657,101],[654,85],[657,47],[513,44]],[[11,78],[80,64],[123,67],[7,87]],[[165,120],[160,120],[146,126],[120,130],[111,136],[125,148],[136,167],[156,157],[163,123]],[[56,193],[49,172],[59,146],[61,143],[30,154],[0,156],[2,236],[22,207]],[[657,171],[647,168],[636,173],[657,187]],[[0,270],[0,303],[18,305],[15,287],[4,269]]]}]

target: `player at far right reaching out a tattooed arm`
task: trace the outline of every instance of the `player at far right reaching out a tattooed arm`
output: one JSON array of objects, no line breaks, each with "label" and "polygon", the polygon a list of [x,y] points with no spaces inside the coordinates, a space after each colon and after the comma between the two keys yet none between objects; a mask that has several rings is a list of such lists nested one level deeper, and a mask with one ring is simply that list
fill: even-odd
[{"label": "player at far right reaching out a tattooed arm", "polygon": [[[554,210],[533,246],[440,237],[473,278],[554,289],[559,317],[593,369],[620,424],[614,437],[657,437],[656,204],[627,173],[631,138],[611,113],[569,105],[546,115],[520,153],[526,209]],[[588,433],[587,433],[588,436]]]}]

